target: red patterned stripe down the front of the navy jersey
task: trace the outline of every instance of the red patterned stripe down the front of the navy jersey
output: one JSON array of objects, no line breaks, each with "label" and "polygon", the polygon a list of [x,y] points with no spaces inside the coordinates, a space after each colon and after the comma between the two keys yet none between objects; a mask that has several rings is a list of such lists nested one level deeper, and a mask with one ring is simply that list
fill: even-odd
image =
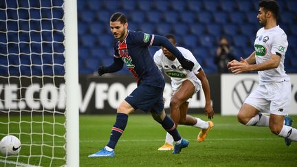
[{"label": "red patterned stripe down the front of the navy jersey", "polygon": [[135,78],[138,82],[139,77],[138,77],[136,71],[134,70],[135,66],[132,63],[132,58],[131,58],[131,56],[129,56],[129,52],[128,52],[128,49],[126,46],[126,40],[124,40],[123,43],[120,43],[120,41],[118,42],[118,52],[119,52],[122,60],[126,64],[126,67],[128,67],[129,71],[131,71],[131,73],[133,74],[133,76],[135,76]]}]

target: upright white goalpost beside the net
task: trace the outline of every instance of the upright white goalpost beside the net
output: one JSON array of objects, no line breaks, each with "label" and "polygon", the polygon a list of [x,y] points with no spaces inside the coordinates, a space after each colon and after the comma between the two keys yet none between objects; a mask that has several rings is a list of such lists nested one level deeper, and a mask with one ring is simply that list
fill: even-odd
[{"label": "upright white goalpost beside the net", "polygon": [[64,0],[66,166],[79,166],[77,1]]}]

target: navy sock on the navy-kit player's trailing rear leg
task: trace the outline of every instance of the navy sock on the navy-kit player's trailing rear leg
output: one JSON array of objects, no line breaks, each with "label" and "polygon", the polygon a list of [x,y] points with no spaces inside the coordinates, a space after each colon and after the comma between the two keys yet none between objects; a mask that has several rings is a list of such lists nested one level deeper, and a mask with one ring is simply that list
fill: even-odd
[{"label": "navy sock on the navy-kit player's trailing rear leg", "polygon": [[175,127],[175,123],[168,117],[168,115],[166,115],[164,120],[159,123],[162,124],[162,127],[173,137],[175,142],[181,140],[181,136]]}]

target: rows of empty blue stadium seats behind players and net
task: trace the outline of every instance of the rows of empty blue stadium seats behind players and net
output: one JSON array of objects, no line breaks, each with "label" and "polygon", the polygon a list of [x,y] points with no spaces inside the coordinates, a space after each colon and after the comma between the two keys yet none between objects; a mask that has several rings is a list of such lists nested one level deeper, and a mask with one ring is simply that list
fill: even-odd
[{"label": "rows of empty blue stadium seats behind players and net", "polygon": [[[190,49],[207,74],[217,73],[214,56],[221,36],[228,38],[235,58],[245,58],[253,52],[256,31],[261,27],[256,19],[258,0],[78,0],[77,3],[80,74],[96,74],[100,65],[113,63],[113,35],[109,27],[113,12],[126,14],[129,30],[175,34],[177,44]],[[54,7],[46,8],[52,4]],[[0,63],[3,65],[0,74],[64,73],[62,4],[62,0],[0,2]],[[285,70],[296,73],[297,1],[281,0],[278,4],[278,24],[289,41]],[[25,8],[18,8],[19,5]],[[55,19],[46,19],[51,16]],[[41,32],[30,31],[34,29]],[[151,47],[151,54],[157,49]],[[8,64],[14,65],[8,68]],[[126,67],[117,72],[128,73]]]}]

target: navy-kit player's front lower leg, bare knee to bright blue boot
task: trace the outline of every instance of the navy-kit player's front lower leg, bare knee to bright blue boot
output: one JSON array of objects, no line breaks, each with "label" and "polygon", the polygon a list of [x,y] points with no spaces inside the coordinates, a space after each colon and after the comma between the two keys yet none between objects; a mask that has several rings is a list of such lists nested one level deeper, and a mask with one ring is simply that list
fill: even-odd
[{"label": "navy-kit player's front lower leg, bare knee to bright blue boot", "polygon": [[124,133],[124,129],[126,128],[126,124],[128,122],[128,115],[134,111],[134,108],[125,100],[120,104],[117,109],[117,116],[115,120],[115,124],[113,124],[113,128],[111,129],[111,135],[109,138],[109,143],[97,153],[89,155],[89,157],[114,157],[114,148],[118,143],[122,133]]}]

